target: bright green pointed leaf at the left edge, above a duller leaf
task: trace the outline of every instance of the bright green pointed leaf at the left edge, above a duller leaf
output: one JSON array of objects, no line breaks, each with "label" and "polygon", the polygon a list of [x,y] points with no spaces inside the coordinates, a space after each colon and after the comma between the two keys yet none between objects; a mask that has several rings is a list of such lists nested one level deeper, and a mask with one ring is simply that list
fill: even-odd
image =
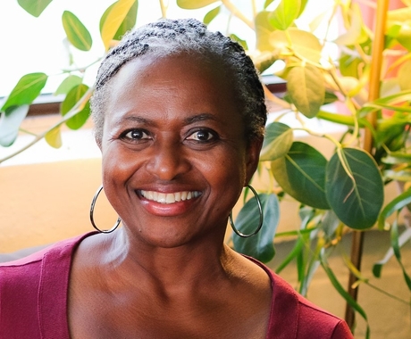
[{"label": "bright green pointed leaf at the left edge, above a duller leaf", "polygon": [[29,73],[21,77],[13,88],[1,111],[4,112],[11,106],[30,104],[38,97],[45,87],[47,76],[45,73]]}]

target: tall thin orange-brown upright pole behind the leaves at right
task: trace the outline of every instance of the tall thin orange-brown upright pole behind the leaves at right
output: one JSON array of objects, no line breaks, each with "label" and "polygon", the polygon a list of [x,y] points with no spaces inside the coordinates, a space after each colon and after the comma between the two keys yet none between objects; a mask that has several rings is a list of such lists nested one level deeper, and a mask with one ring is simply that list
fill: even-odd
[{"label": "tall thin orange-brown upright pole behind the leaves at right", "polygon": [[[389,3],[389,0],[377,0],[376,22],[374,29],[375,37],[373,41],[370,82],[368,88],[368,102],[372,102],[380,96],[382,51],[384,49],[385,24],[387,21]],[[370,122],[371,126],[375,127],[377,121],[377,113],[369,113],[366,119]],[[373,151],[373,135],[369,128],[365,128],[364,150],[370,154]],[[355,231],[352,238],[351,261],[358,270],[361,269],[364,235],[364,232]],[[348,294],[350,294],[354,300],[357,299],[358,294],[358,286],[353,287],[353,285],[356,283],[356,280],[356,276],[352,272],[350,272],[348,278]],[[355,312],[348,304],[346,306],[345,319],[348,323],[348,327],[353,328],[355,322]]]}]

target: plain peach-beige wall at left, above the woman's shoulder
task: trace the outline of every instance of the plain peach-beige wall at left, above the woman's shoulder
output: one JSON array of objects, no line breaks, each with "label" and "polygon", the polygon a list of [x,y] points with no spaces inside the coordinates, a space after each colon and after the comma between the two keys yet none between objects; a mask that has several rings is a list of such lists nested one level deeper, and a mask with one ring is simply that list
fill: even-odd
[{"label": "plain peach-beige wall at left, above the woman's shoulder", "polygon": [[[0,252],[92,230],[89,205],[101,184],[100,171],[99,159],[0,167]],[[101,195],[96,221],[111,227],[116,215]]]}]

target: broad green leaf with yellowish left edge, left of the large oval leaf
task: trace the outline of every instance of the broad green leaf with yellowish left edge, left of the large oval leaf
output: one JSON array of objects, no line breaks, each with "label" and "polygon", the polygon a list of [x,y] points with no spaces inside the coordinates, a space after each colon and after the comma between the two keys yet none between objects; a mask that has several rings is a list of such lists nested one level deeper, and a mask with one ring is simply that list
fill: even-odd
[{"label": "broad green leaf with yellowish left edge, left of the large oval leaf", "polygon": [[286,156],[272,162],[271,170],[282,189],[298,202],[327,210],[330,206],[324,188],[326,165],[323,154],[296,141]]}]

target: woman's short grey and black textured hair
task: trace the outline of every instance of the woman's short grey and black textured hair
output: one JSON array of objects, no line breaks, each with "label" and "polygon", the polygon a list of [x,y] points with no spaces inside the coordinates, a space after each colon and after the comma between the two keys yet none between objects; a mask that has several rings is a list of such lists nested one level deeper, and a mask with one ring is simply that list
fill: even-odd
[{"label": "woman's short grey and black textured hair", "polygon": [[220,32],[207,30],[206,25],[195,19],[161,19],[130,30],[101,63],[91,98],[98,144],[103,136],[106,100],[110,97],[108,85],[122,66],[142,55],[163,57],[181,53],[204,55],[222,62],[238,95],[247,142],[264,136],[267,120],[264,89],[254,63],[242,46]]}]

